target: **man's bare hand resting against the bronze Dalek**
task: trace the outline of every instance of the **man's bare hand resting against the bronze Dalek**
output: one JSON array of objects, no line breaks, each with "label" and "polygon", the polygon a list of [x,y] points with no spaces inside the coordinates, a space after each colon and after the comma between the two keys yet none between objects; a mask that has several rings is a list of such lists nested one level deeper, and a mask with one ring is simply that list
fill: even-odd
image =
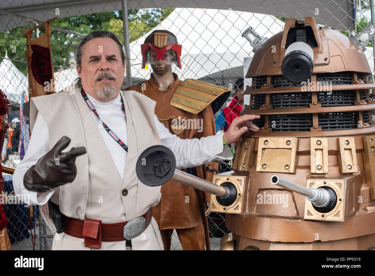
[{"label": "man's bare hand resting against the bronze Dalek", "polygon": [[246,131],[258,131],[259,128],[251,120],[260,119],[260,115],[243,115],[235,118],[224,133],[224,142],[228,145],[236,142]]}]

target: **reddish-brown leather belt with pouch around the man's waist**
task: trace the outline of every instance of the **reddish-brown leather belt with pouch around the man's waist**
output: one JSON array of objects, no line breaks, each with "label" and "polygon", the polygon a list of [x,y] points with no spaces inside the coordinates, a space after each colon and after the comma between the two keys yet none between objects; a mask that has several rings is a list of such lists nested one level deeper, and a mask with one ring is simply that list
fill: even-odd
[{"label": "reddish-brown leather belt with pouch around the man's waist", "polygon": [[[151,222],[151,208],[142,215],[145,219],[145,227]],[[86,243],[91,248],[100,248],[101,241],[125,241],[124,238],[124,226],[131,222],[128,220],[126,222],[118,223],[102,223],[100,220],[93,219],[74,219],[72,217],[67,217],[61,214],[61,221],[63,232],[75,238],[83,238]],[[90,246],[91,245],[91,246]],[[93,246],[94,245],[94,246]]]}]

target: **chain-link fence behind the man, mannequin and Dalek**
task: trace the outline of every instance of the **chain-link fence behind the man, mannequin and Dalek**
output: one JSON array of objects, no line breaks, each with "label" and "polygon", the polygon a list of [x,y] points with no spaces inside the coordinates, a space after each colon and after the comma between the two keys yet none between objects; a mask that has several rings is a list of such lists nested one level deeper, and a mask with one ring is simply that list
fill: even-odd
[{"label": "chain-link fence behind the man, mannequin and Dalek", "polygon": [[[174,68],[178,78],[193,78],[208,83],[229,87],[232,93],[223,108],[215,114],[216,130],[223,131],[231,123],[233,114],[238,116],[249,98],[241,92],[251,79],[242,82],[253,56],[250,43],[242,37],[243,31],[252,26],[261,36],[270,38],[281,32],[286,18],[303,20],[314,17],[321,26],[339,30],[345,35],[360,32],[372,22],[372,3],[369,0],[262,0],[231,1],[2,1],[0,3],[0,89],[5,92],[12,105],[7,115],[7,130],[2,147],[3,167],[14,169],[27,151],[28,144],[28,80],[26,60],[25,28],[31,29],[45,20],[57,17],[51,23],[51,51],[55,77],[55,91],[72,89],[78,77],[74,50],[81,37],[94,30],[114,32],[124,41],[127,56],[127,71],[123,87],[137,84],[150,78],[151,68],[141,69],[141,44],[152,30],[169,30],[182,45],[182,69]],[[127,8],[127,9],[126,9]],[[374,8],[374,7],[372,7]],[[124,31],[127,10],[128,28]],[[126,21],[125,21],[126,22]],[[126,30],[128,29],[128,30]],[[33,32],[37,37],[45,32],[41,27]],[[125,37],[127,38],[127,37]],[[129,44],[127,44],[127,42]],[[129,45],[129,46],[128,46]],[[372,72],[374,54],[372,42],[365,51]],[[130,73],[129,73],[130,72]],[[130,80],[130,81],[129,81]],[[232,113],[232,115],[230,115]],[[228,164],[221,163],[222,171]],[[225,168],[226,167],[226,168]],[[7,174],[4,174],[7,175]],[[9,185],[5,192],[8,198],[13,191],[11,177],[5,176]],[[50,249],[53,225],[45,206],[6,206],[9,219],[7,226],[13,249]],[[30,216],[30,213],[33,214]],[[209,215],[209,230],[212,249],[219,249],[220,238],[228,231],[225,216]],[[30,230],[31,229],[31,230]],[[34,234],[35,232],[35,234]],[[36,237],[35,237],[36,236]],[[181,249],[176,233],[172,248]]]}]

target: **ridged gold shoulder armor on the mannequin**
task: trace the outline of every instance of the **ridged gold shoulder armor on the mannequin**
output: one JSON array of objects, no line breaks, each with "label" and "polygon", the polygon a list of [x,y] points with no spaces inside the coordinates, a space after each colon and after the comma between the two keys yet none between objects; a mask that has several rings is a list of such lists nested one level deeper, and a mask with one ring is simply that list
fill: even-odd
[{"label": "ridged gold shoulder armor on the mannequin", "polygon": [[205,81],[187,78],[177,87],[171,99],[171,106],[198,114],[211,104],[213,113],[228,99],[230,90]]}]

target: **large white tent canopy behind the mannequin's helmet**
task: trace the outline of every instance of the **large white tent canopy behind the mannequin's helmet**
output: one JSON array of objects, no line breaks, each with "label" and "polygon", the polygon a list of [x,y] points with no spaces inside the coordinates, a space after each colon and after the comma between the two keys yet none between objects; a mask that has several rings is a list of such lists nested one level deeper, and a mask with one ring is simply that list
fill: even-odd
[{"label": "large white tent canopy behind the mannequin's helmet", "polygon": [[[214,19],[214,20],[213,20]],[[250,43],[242,32],[252,26],[262,36],[271,37],[281,32],[284,22],[264,14],[213,9],[175,9],[153,30],[174,33],[182,45],[181,66],[174,72],[179,78],[200,78],[214,83],[228,84],[243,76],[243,59],[252,56]],[[130,43],[133,83],[149,77],[150,66],[141,69],[141,44],[151,30]]]}]

